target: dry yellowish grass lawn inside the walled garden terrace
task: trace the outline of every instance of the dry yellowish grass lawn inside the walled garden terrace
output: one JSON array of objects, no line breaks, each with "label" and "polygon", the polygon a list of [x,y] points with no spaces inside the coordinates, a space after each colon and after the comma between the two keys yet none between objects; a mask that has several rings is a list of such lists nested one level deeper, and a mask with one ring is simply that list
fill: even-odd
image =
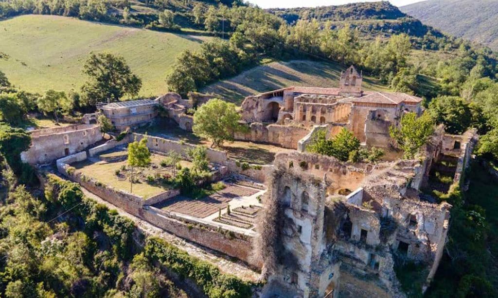
[{"label": "dry yellowish grass lawn inside the walled garden terrace", "polygon": [[[158,154],[151,154],[151,166],[144,169],[134,169],[133,177],[142,177],[142,179],[139,179],[139,182],[137,183],[133,183],[133,194],[147,199],[170,189],[169,185],[159,183],[150,184],[146,181],[146,179],[143,179],[143,177],[146,177],[148,175],[154,176],[155,173],[159,173],[161,175],[171,175],[170,168],[164,168],[159,165],[161,160],[164,158],[164,156]],[[180,164],[182,165],[182,167],[192,166],[192,163],[190,161],[185,160],[182,160]],[[74,166],[79,172],[83,173],[85,176],[94,178],[97,181],[112,186],[116,189],[130,192],[130,181],[129,179],[127,179],[127,175],[116,175],[116,170],[120,170],[123,166],[125,166],[126,160],[113,162],[93,162],[87,159],[71,165]]]}]

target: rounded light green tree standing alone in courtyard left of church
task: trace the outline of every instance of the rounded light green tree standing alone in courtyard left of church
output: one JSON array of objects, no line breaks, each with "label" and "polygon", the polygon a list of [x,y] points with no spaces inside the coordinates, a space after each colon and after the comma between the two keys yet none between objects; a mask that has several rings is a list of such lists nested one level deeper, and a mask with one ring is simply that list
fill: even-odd
[{"label": "rounded light green tree standing alone in courtyard left of church", "polygon": [[234,133],[243,129],[240,120],[235,104],[214,98],[197,109],[192,130],[200,137],[211,139],[211,147],[219,147],[225,141],[233,141]]}]

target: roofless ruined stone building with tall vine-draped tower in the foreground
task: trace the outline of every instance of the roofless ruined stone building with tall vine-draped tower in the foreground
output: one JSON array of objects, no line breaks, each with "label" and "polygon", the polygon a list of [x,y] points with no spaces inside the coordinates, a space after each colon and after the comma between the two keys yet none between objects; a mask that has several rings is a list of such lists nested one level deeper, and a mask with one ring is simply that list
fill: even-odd
[{"label": "roofless ruined stone building with tall vine-draped tower in the foreground", "polygon": [[451,205],[419,196],[427,164],[277,154],[258,229],[273,223],[274,239],[265,231],[256,242],[268,276],[265,295],[403,297],[396,260],[422,264],[428,285],[443,254]]}]

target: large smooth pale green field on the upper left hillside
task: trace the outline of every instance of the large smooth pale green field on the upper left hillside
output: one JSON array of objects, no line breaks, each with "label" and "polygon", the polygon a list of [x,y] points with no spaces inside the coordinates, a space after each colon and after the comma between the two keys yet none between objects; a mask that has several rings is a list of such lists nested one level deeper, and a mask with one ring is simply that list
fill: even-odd
[{"label": "large smooth pale green field on the upper left hillside", "polygon": [[0,70],[22,89],[79,90],[90,52],[124,56],[142,79],[140,95],[167,91],[165,77],[177,55],[209,37],[190,36],[82,21],[53,15],[23,15],[0,22]]}]

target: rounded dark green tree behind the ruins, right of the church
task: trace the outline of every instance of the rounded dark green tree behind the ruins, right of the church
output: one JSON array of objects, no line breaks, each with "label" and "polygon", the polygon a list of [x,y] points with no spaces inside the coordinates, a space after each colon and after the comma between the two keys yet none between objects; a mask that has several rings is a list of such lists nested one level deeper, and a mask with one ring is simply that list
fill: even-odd
[{"label": "rounded dark green tree behind the ruins, right of the church", "polygon": [[436,124],[444,124],[446,132],[458,135],[464,133],[472,123],[469,104],[458,96],[440,96],[429,104],[429,113]]}]

